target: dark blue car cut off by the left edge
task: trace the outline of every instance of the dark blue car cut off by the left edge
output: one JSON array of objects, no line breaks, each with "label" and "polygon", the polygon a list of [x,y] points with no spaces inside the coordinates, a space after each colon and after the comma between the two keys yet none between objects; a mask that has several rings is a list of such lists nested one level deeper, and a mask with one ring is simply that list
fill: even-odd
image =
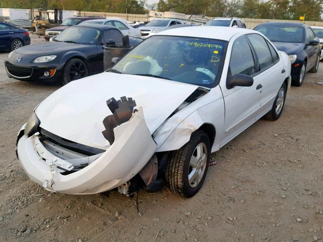
[{"label": "dark blue car cut off by the left edge", "polygon": [[0,50],[14,50],[30,44],[27,29],[0,23]]}]

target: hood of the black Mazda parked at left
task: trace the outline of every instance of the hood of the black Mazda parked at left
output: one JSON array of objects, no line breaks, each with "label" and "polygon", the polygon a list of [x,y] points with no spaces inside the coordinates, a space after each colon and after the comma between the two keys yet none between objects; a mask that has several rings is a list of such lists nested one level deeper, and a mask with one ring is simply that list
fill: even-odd
[{"label": "hood of the black Mazda parked at left", "polygon": [[22,48],[16,49],[15,51],[18,54],[49,55],[57,54],[58,52],[64,53],[70,50],[79,50],[84,47],[88,48],[88,45],[52,41],[46,43],[26,45]]}]

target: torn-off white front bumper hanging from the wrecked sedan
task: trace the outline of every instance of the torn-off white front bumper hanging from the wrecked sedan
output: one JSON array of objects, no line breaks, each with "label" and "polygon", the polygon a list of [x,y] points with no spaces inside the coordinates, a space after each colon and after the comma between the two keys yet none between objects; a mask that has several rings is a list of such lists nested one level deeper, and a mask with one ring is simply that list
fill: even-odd
[{"label": "torn-off white front bumper hanging from the wrecked sedan", "polygon": [[95,194],[117,188],[135,176],[155,153],[157,145],[146,126],[142,108],[114,129],[114,143],[88,166],[70,174],[72,160],[49,152],[36,133],[23,135],[17,145],[18,159],[27,175],[46,190],[64,194]]}]

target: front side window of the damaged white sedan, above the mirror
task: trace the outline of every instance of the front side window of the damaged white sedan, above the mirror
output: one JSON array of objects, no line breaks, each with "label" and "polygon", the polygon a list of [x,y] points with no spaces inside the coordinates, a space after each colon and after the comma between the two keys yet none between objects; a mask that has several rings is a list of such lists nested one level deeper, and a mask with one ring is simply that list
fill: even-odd
[{"label": "front side window of the damaged white sedan, above the mirror", "polygon": [[251,76],[256,73],[253,55],[245,36],[237,38],[232,46],[229,76],[244,74]]}]

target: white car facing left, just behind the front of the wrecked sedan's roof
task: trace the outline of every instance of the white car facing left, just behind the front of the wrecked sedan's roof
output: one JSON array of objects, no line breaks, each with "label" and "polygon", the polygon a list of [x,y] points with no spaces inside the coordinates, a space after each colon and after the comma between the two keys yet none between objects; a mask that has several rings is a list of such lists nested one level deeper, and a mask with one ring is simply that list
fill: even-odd
[{"label": "white car facing left, just behind the front of the wrecked sedan's roof", "polygon": [[141,36],[145,39],[150,33],[158,33],[176,24],[184,24],[184,22],[178,19],[154,19],[138,29],[141,32]]}]

